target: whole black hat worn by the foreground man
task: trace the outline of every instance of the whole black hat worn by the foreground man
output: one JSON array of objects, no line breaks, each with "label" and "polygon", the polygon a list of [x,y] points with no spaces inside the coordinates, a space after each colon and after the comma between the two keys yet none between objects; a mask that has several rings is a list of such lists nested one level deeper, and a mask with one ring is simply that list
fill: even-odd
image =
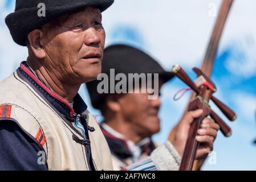
[{"label": "whole black hat worn by the foreground man", "polygon": [[[102,12],[113,2],[114,0],[16,0],[15,11],[6,16],[5,22],[14,42],[26,46],[27,35],[43,24],[86,6],[97,7]],[[38,16],[40,3],[45,5],[46,16]]]}]

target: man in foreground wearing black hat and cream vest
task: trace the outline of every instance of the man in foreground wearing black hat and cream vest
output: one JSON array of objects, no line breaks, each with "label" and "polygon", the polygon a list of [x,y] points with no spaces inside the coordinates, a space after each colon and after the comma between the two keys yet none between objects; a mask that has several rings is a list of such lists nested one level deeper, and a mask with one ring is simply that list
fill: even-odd
[{"label": "man in foreground wearing black hat and cream vest", "polygon": [[[42,2],[46,16],[38,16]],[[112,3],[16,1],[6,24],[14,42],[27,46],[29,56],[0,83],[0,169],[113,169],[104,135],[78,94],[81,84],[101,72],[101,12]],[[185,137],[188,126],[182,127]],[[166,142],[153,151],[147,159],[152,169],[178,169],[182,148],[176,146],[177,152],[174,147]]]}]

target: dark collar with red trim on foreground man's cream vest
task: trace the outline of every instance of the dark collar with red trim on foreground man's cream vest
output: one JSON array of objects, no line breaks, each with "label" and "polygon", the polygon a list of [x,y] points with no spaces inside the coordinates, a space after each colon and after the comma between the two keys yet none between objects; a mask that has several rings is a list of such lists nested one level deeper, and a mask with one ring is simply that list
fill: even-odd
[{"label": "dark collar with red trim on foreground man's cream vest", "polygon": [[55,107],[61,114],[66,117],[73,118],[76,114],[82,114],[87,109],[87,105],[84,103],[83,99],[76,94],[74,97],[74,106],[71,107],[70,104],[62,97],[58,96],[58,94],[52,92],[47,88],[46,85],[43,84],[35,75],[30,71],[29,68],[25,65],[26,61],[23,61],[20,67],[17,69],[19,77],[22,80],[29,83],[33,89],[37,92],[40,92],[41,95],[46,99],[52,106]]}]

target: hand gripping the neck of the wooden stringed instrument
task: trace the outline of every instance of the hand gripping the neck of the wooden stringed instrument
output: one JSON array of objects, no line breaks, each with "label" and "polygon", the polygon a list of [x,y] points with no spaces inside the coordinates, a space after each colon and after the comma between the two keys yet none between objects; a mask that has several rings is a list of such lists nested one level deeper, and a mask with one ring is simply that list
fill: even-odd
[{"label": "hand gripping the neck of the wooden stringed instrument", "polygon": [[[173,141],[173,146],[178,153],[182,156],[188,138],[189,128],[195,118],[202,115],[202,110],[189,111],[181,119],[177,126],[176,136]],[[217,131],[220,126],[214,122],[213,119],[205,118],[202,121],[201,128],[197,130],[196,140],[200,142],[200,147],[197,150],[197,159],[203,158],[213,150],[213,142],[217,137]]]}]

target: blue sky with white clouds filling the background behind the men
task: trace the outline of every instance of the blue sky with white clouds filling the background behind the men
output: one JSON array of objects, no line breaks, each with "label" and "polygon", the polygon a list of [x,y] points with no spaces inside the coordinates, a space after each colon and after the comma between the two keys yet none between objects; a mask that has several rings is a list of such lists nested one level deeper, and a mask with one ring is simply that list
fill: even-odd
[{"label": "blue sky with white clouds filling the background behind the men", "polygon": [[[103,13],[103,26],[107,32],[106,46],[126,43],[143,49],[170,70],[179,63],[195,78],[192,67],[200,67],[214,25],[214,16],[209,15],[209,5],[217,9],[220,0],[117,0]],[[233,136],[218,134],[214,151],[217,164],[206,162],[206,170],[255,170],[256,146],[256,12],[254,0],[237,0],[231,10],[222,36],[212,79],[216,82],[216,96],[231,106],[238,115],[231,123],[213,105],[213,109],[233,129]],[[0,2],[0,80],[10,75],[22,60],[26,59],[26,48],[17,46],[4,22],[7,14],[14,10],[14,1]],[[141,66],[141,65],[138,65]],[[173,95],[185,85],[174,79],[162,88],[161,127],[154,136],[164,142],[170,129],[180,119],[188,102],[189,93],[179,101]],[[99,112],[90,105],[87,90],[79,90],[93,114]]]}]

